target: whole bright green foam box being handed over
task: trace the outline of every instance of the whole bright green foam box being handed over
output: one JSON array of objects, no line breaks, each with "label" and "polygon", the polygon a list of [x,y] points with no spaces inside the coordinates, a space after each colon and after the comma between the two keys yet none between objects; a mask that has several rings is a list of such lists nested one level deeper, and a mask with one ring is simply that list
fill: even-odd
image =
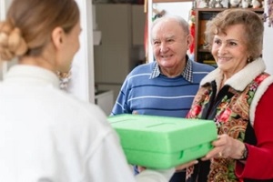
[{"label": "whole bright green foam box being handed over", "polygon": [[142,167],[165,169],[204,157],[217,139],[212,120],[128,114],[108,120],[128,163]]}]

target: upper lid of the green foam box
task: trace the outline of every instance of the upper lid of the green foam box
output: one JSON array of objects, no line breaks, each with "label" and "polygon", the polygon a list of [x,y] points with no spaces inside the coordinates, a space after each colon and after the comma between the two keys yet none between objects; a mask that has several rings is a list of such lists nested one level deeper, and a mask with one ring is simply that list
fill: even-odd
[{"label": "upper lid of the green foam box", "polygon": [[124,149],[175,153],[217,138],[212,120],[128,114],[109,116],[108,120]]}]

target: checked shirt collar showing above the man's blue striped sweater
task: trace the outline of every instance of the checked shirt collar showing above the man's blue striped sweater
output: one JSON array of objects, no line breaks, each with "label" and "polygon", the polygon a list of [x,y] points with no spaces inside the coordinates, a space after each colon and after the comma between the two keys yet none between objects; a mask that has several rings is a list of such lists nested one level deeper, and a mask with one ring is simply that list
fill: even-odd
[{"label": "checked shirt collar showing above the man's blue striped sweater", "polygon": [[[193,76],[192,76],[192,62],[191,60],[188,58],[188,56],[186,57],[187,59],[187,65],[185,66],[184,71],[182,72],[181,76],[183,76],[188,82],[193,82]],[[156,62],[153,71],[151,73],[151,76],[149,77],[150,79],[156,78],[161,74],[159,66]]]}]

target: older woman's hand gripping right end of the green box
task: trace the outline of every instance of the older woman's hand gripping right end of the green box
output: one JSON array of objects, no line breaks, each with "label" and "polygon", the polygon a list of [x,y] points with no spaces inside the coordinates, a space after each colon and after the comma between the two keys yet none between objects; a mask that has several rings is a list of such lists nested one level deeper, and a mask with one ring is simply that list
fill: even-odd
[{"label": "older woman's hand gripping right end of the green box", "polygon": [[217,136],[217,140],[212,142],[212,146],[214,148],[209,151],[202,160],[208,160],[213,157],[231,157],[239,159],[242,157],[245,149],[245,144],[243,142],[227,136],[226,134]]}]

